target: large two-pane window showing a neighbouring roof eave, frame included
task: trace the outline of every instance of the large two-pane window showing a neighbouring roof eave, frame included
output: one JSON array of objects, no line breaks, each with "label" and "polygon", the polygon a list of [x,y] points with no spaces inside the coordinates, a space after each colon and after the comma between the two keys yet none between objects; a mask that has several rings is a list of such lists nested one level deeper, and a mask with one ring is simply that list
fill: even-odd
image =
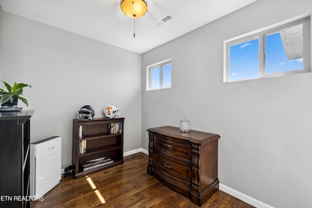
[{"label": "large two-pane window showing a neighbouring roof eave, frame included", "polygon": [[224,42],[224,82],[311,72],[310,17]]}]

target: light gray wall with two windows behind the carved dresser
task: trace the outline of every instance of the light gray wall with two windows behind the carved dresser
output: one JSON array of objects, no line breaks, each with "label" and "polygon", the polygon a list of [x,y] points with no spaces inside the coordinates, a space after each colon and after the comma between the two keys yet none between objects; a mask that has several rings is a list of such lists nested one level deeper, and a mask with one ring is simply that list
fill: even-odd
[{"label": "light gray wall with two windows behind the carved dresser", "polygon": [[[258,0],[144,53],[142,148],[148,128],[186,117],[221,136],[221,184],[276,208],[312,205],[312,73],[223,83],[224,40],[311,11],[311,0]],[[146,91],[146,66],[168,58],[172,88]]]}]

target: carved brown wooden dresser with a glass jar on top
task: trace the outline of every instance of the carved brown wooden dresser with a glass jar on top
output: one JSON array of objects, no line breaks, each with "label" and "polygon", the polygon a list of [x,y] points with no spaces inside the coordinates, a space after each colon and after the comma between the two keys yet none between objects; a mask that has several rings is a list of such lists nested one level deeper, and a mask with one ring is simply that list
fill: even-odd
[{"label": "carved brown wooden dresser with a glass jar on top", "polygon": [[180,132],[172,126],[148,129],[147,172],[170,189],[203,205],[217,189],[218,138],[214,133]]}]

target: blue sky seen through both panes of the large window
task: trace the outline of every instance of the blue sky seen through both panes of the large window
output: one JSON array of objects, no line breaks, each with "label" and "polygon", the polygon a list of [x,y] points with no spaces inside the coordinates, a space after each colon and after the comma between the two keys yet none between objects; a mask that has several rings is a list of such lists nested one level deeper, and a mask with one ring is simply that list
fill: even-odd
[{"label": "blue sky seen through both panes of the large window", "polygon": [[[288,60],[280,33],[267,35],[265,41],[265,74],[303,69],[303,58]],[[230,81],[259,77],[259,39],[230,47]]]}]

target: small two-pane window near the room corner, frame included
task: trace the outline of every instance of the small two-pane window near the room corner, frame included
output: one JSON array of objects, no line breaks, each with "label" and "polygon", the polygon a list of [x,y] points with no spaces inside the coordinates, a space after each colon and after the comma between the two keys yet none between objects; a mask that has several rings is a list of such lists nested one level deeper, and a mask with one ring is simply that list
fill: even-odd
[{"label": "small two-pane window near the room corner, frame included", "polygon": [[146,90],[171,87],[171,59],[147,67]]}]

